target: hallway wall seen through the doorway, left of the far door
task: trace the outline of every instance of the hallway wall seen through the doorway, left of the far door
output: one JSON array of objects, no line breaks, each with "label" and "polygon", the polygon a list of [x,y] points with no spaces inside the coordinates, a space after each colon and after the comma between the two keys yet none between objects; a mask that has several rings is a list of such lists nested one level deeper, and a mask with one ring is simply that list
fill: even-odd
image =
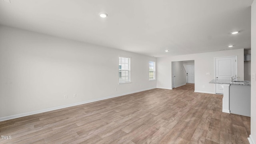
[{"label": "hallway wall seen through the doorway, left of the far door", "polygon": [[175,68],[175,87],[183,86],[186,84],[186,72],[183,62],[174,62]]}]

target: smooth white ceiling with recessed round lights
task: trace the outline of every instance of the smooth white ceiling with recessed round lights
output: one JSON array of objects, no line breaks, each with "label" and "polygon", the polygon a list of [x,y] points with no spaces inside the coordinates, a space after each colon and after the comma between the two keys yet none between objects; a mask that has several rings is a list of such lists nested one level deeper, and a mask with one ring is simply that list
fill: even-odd
[{"label": "smooth white ceiling with recessed round lights", "polygon": [[2,25],[148,56],[251,47],[253,0],[10,1],[0,1]]}]

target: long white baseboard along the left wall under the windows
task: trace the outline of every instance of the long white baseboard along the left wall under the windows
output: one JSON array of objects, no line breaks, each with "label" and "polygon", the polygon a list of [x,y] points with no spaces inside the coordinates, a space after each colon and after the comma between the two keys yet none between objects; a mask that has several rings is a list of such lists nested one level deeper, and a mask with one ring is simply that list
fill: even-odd
[{"label": "long white baseboard along the left wall under the windows", "polygon": [[109,99],[109,98],[115,98],[115,97],[118,97],[118,96],[124,96],[124,95],[127,95],[127,94],[133,94],[133,93],[136,93],[136,92],[142,92],[142,91],[145,91],[145,90],[151,90],[151,89],[154,89],[154,88],[156,88],[156,87],[146,88],[146,89],[143,89],[143,90],[136,90],[136,91],[127,92],[127,93],[124,93],[124,94],[117,94],[117,95],[114,95],[114,96],[106,96],[106,97],[103,97],[103,98],[97,98],[97,99],[93,99],[93,100],[86,100],[86,101],[83,101],[83,102],[77,102],[77,103],[74,103],[74,104],[67,104],[67,105],[64,105],[64,106],[56,106],[56,107],[53,107],[53,108],[47,108],[47,109],[43,109],[43,110],[36,110],[36,111],[33,111],[33,112],[26,112],[26,113],[22,113],[22,114],[15,114],[15,115],[12,115],[12,116],[6,116],[6,117],[0,118],[0,122],[5,121],[5,120],[11,120],[11,119],[14,119],[14,118],[21,118],[21,117],[24,117],[24,116],[30,116],[30,115],[33,115],[33,114],[40,114],[42,112],[49,112],[49,111],[52,111],[52,110],[68,108],[68,107],[71,107],[71,106],[78,106],[80,104],[87,104],[87,103],[90,103],[90,102],[106,100],[106,99]]}]

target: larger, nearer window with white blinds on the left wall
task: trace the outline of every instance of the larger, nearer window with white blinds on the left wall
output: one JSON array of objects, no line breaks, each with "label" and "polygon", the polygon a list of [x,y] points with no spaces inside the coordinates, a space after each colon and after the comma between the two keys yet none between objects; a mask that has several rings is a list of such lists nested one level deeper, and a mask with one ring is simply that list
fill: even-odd
[{"label": "larger, nearer window with white blinds on the left wall", "polygon": [[119,57],[119,83],[130,82],[130,58]]}]

